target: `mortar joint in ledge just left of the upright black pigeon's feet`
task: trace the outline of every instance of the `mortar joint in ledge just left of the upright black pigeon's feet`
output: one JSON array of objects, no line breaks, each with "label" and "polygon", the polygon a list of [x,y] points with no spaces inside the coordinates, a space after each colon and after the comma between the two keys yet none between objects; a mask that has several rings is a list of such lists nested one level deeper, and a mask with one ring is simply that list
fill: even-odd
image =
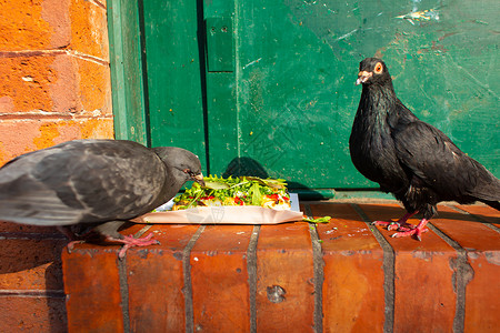
[{"label": "mortar joint in ledge just left of the upright black pigeon's feet", "polygon": [[354,211],[361,216],[368,229],[371,231],[377,242],[383,250],[383,299],[386,303],[383,332],[394,331],[394,264],[396,254],[391,244],[386,240],[382,233],[371,225],[372,221],[368,218],[364,211],[356,203],[350,203]]}]

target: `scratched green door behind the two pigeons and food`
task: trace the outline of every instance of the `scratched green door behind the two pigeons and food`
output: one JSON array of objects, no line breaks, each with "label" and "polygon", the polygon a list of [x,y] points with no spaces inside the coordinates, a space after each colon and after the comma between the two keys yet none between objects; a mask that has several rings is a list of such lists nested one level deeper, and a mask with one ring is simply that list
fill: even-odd
[{"label": "scratched green door behind the two pigeons and food", "polygon": [[500,23],[481,1],[143,1],[150,143],[211,174],[374,189],[348,140],[359,62],[382,57],[399,98],[500,173]]}]

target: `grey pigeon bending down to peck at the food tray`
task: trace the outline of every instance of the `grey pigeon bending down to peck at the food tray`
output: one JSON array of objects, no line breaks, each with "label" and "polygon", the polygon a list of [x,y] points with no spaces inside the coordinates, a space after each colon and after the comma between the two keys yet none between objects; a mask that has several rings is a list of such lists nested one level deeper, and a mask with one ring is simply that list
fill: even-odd
[{"label": "grey pigeon bending down to peck at the food tray", "polygon": [[131,246],[157,241],[152,234],[123,236],[118,229],[169,201],[188,180],[203,182],[201,165],[180,148],[69,141],[20,155],[0,169],[0,220],[57,225],[73,236],[90,226],[104,240],[123,243],[122,258]]}]

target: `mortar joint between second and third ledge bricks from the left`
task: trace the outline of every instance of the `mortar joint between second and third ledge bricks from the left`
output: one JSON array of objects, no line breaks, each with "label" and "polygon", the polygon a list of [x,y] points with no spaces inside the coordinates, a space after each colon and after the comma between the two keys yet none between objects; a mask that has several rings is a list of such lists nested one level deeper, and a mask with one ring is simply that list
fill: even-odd
[{"label": "mortar joint between second and third ledge bricks from the left", "polygon": [[184,286],[182,289],[182,293],[184,294],[184,316],[186,316],[186,332],[192,333],[194,332],[194,313],[192,305],[192,283],[191,283],[191,250],[194,248],[194,243],[201,236],[201,233],[204,231],[204,225],[200,225],[197,232],[192,235],[189,243],[186,245],[184,250],[182,250],[182,270],[184,278]]}]

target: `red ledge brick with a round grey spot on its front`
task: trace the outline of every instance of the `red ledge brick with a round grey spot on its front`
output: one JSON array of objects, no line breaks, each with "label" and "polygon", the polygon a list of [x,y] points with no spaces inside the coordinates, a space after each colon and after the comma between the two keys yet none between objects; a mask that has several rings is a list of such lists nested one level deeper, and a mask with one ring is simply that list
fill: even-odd
[{"label": "red ledge brick with a round grey spot on its front", "polygon": [[313,282],[309,224],[262,225],[257,245],[257,331],[312,332]]}]

